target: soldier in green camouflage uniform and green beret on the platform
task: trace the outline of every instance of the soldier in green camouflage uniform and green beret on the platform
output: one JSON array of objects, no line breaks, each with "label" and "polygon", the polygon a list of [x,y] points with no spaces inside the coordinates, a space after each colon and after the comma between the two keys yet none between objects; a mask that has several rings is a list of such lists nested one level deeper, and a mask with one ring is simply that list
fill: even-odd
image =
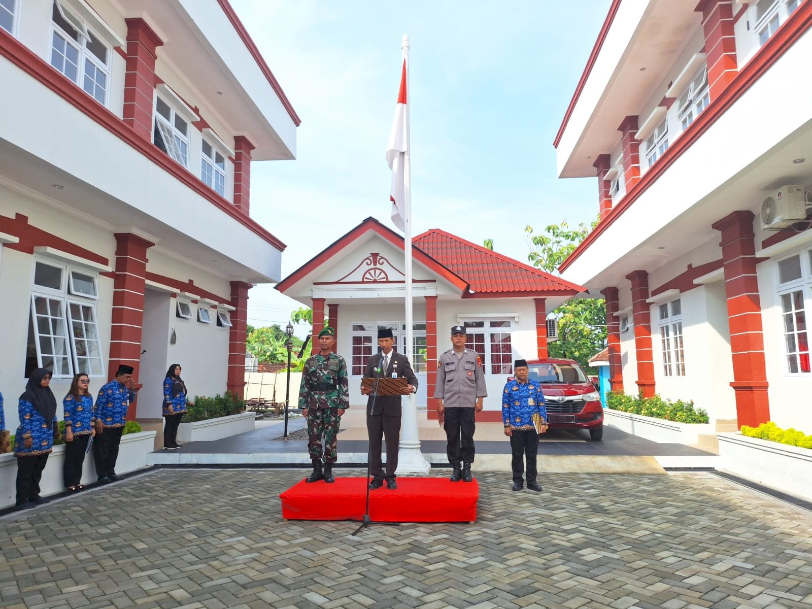
[{"label": "soldier in green camouflage uniform and green beret on the platform", "polygon": [[[307,482],[335,482],[333,464],[335,441],[344,410],[349,408],[347,362],[335,354],[335,330],[326,327],[318,333],[319,352],[304,362],[299,388],[299,408],[307,419],[308,451],[313,460],[313,473]],[[324,469],[322,471],[322,435],[324,436]]]}]

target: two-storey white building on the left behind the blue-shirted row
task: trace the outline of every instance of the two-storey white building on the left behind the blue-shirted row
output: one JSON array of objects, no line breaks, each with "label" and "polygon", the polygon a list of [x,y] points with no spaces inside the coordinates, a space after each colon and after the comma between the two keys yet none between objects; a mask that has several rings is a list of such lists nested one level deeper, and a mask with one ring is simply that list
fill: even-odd
[{"label": "two-storey white building on the left behind the blue-shirted row", "polygon": [[172,363],[242,391],[248,288],[284,249],[251,162],[294,158],[299,119],[227,0],[2,0],[0,92],[6,425],[37,366],[60,402],[135,366],[140,420]]}]

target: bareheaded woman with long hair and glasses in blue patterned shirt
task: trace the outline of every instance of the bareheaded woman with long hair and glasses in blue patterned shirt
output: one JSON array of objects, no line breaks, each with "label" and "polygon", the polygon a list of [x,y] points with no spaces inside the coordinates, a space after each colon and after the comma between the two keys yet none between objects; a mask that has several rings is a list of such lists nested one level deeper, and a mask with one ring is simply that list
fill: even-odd
[{"label": "bareheaded woman with long hair and glasses in blue patterned shirt", "polygon": [[90,393],[90,378],[80,373],[73,377],[71,389],[62,400],[65,411],[65,466],[63,480],[67,490],[76,491],[83,487],[82,466],[87,454],[90,438],[96,435],[96,417],[93,415],[93,395]]}]

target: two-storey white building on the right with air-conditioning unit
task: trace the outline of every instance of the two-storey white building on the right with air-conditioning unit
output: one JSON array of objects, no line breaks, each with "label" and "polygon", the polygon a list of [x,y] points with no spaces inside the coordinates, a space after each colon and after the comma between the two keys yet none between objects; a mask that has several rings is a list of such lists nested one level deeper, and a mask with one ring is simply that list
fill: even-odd
[{"label": "two-storey white building on the right with air-conditioning unit", "polygon": [[560,270],[606,296],[612,387],[719,429],[812,431],[810,25],[809,0],[614,0],[555,138],[560,177],[598,175]]}]

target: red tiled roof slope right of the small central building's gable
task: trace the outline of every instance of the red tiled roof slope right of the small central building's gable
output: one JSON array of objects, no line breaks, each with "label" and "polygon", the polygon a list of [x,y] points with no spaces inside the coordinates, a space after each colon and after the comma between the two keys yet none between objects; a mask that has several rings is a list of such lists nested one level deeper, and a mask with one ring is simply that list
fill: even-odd
[{"label": "red tiled roof slope right of the small central building's gable", "polygon": [[556,296],[574,296],[585,290],[575,283],[437,228],[417,235],[412,244],[462,277],[469,283],[469,291],[473,294],[510,293],[520,296],[526,293],[531,296],[537,292],[555,292]]}]

